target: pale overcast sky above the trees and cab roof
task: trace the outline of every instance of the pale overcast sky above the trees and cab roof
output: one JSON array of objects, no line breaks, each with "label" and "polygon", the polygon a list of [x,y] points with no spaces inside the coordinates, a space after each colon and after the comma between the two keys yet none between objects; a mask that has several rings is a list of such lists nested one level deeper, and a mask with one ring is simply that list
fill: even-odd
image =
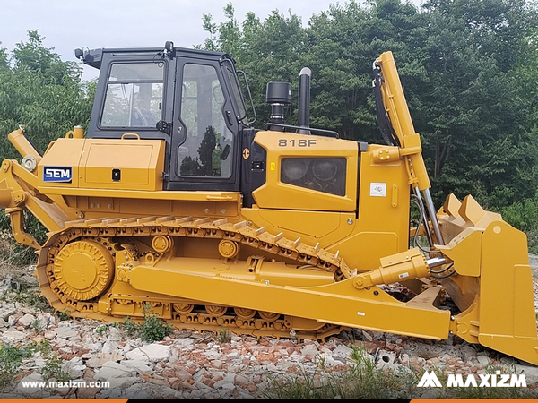
[{"label": "pale overcast sky above the trees and cab roof", "polygon": [[[418,0],[414,0],[416,3]],[[202,27],[203,14],[213,22],[224,21],[223,8],[233,4],[235,19],[244,21],[248,12],[261,21],[273,10],[301,17],[307,26],[313,14],[341,0],[0,0],[0,47],[12,51],[28,39],[29,30],[39,30],[44,46],[64,61],[75,61],[74,49],[87,47],[176,47],[204,43],[209,33]],[[233,56],[233,55],[232,55]],[[91,80],[98,71],[84,66],[82,79]]]}]

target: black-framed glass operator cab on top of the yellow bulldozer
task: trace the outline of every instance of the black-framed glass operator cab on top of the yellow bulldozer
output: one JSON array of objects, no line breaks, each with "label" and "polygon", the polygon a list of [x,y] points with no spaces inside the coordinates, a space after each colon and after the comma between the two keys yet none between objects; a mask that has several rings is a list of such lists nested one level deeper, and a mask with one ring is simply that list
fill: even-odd
[{"label": "black-framed glass operator cab on top of the yellow bulldozer", "polygon": [[240,142],[254,129],[229,55],[167,42],[75,56],[100,70],[87,137],[166,141],[164,189],[239,192]]}]

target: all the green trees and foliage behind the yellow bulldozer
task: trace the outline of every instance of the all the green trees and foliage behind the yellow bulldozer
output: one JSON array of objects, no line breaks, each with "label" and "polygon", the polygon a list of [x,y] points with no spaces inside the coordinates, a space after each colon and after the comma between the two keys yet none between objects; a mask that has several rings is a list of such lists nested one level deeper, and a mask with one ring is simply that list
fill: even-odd
[{"label": "all the green trees and foliage behind the yellow bulldozer", "polygon": [[[436,205],[449,193],[473,194],[532,241],[538,238],[537,12],[528,0],[430,0],[420,9],[368,0],[331,5],[303,24],[277,12],[238,21],[229,3],[224,22],[204,15],[208,38],[200,47],[229,53],[247,73],[256,127],[270,113],[266,83],[291,82],[297,94],[299,71],[308,66],[311,126],[369,142],[381,141],[372,62],[392,51]],[[45,47],[39,30],[28,36],[12,52],[0,48],[3,159],[20,159],[6,139],[19,124],[43,152],[74,125],[86,128],[91,114],[95,82],[82,81],[80,64]],[[297,122],[297,99],[286,121]],[[8,227],[4,213],[0,225]]]}]

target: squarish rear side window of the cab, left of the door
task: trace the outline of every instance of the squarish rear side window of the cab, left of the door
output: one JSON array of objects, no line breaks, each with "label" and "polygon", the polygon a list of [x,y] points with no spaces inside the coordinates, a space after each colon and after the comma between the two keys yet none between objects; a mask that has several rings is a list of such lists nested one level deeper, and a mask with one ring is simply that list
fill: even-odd
[{"label": "squarish rear side window of the cab, left of the door", "polygon": [[155,129],[162,119],[164,64],[113,64],[100,125]]}]

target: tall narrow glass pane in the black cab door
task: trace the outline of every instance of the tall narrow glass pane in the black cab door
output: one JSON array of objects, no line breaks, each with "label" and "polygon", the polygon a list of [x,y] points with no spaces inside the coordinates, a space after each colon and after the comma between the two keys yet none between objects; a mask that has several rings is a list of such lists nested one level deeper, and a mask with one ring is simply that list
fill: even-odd
[{"label": "tall narrow glass pane in the black cab door", "polygon": [[185,64],[181,121],[185,141],[178,148],[178,176],[231,176],[233,135],[226,126],[224,93],[215,68]]}]

